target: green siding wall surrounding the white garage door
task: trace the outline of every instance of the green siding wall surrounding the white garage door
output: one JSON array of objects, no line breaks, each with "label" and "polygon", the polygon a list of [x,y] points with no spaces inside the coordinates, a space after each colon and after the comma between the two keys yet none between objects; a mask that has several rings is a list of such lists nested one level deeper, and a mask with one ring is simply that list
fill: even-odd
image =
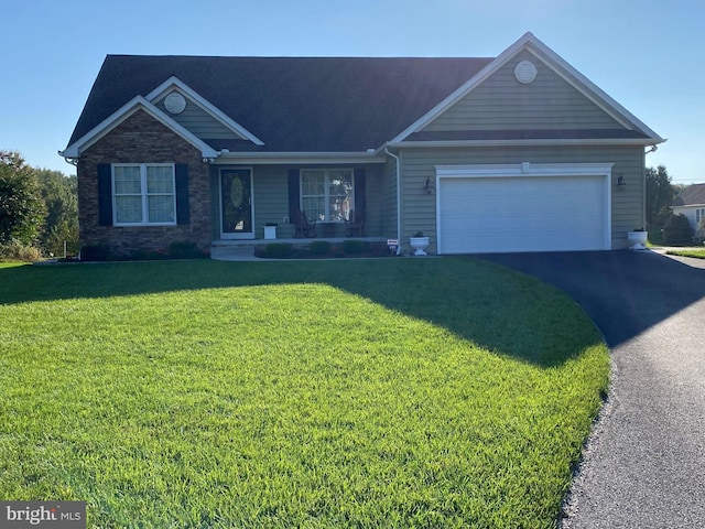
[{"label": "green siding wall surrounding the white garage door", "polygon": [[[423,190],[436,165],[530,163],[614,163],[611,193],[612,248],[627,246],[627,231],[644,224],[642,147],[507,147],[481,149],[409,149],[402,163],[402,238],[416,230],[431,236],[435,251],[436,199]],[[617,187],[622,175],[627,185]]]}]

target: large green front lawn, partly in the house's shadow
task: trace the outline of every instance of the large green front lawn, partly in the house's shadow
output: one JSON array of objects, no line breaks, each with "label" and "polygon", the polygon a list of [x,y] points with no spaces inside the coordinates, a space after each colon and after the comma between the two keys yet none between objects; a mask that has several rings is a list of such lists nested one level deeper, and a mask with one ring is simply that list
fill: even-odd
[{"label": "large green front lawn, partly in the house's shadow", "polygon": [[0,268],[0,498],[88,527],[554,527],[608,381],[473,259]]}]

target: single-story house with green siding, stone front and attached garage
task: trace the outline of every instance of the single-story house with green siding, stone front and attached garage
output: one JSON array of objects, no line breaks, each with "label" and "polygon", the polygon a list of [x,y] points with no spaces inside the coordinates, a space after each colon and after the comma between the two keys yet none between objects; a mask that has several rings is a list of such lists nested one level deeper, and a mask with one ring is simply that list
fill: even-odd
[{"label": "single-story house with green siding, stone front and attached garage", "polygon": [[628,246],[663,141],[527,33],[496,58],[109,55],[61,154],[82,244],[116,253],[289,238],[300,209],[466,253]]}]

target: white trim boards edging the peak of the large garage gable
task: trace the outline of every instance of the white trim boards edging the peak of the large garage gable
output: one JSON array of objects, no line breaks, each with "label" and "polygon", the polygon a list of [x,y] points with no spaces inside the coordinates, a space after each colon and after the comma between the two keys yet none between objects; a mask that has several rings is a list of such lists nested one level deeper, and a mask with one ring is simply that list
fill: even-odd
[{"label": "white trim boards edging the peak of the large garage gable", "polygon": [[[433,109],[426,112],[424,116],[414,121],[411,126],[404,129],[400,134],[390,140],[389,143],[398,143],[404,140],[409,134],[422,130],[431,121],[436,119],[448,108],[455,105],[463,97],[467,96],[477,86],[489,78],[495,72],[501,68],[507,62],[514,57],[519,52],[527,50],[538,60],[543,62],[553,72],[558,74],[564,80],[570,83],[581,94],[587,97],[590,101],[597,105],[600,109],[606,111],[610,117],[616,119],[620,125],[628,129],[637,128],[649,137],[649,141],[646,144],[652,145],[662,143],[665,140],[657,134],[653,130],[647,127],[641,120],[629,112],[625,107],[619,105],[615,99],[608,96],[604,90],[597,87],[587,77],[581,74],[577,69],[571,66],[565,60],[563,60],[557,53],[546,46],[543,42],[536,39],[533,33],[527,32],[521,39],[514,42],[511,46],[505,50],[495,61],[489,63],[477,74],[470,77],[466,83],[460,85],[455,91],[447,96],[443,101],[436,105]],[[553,63],[553,64],[551,64]],[[563,72],[562,72],[562,71]],[[593,95],[594,94],[594,95]]]}]

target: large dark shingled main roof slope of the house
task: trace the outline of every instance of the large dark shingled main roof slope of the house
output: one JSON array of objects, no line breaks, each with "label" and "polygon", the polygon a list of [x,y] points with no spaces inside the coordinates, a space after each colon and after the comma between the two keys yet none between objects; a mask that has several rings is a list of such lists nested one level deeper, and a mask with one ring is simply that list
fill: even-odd
[{"label": "large dark shingled main roof slope of the house", "polygon": [[68,144],[176,76],[260,138],[264,151],[365,151],[394,138],[491,61],[108,55]]}]

